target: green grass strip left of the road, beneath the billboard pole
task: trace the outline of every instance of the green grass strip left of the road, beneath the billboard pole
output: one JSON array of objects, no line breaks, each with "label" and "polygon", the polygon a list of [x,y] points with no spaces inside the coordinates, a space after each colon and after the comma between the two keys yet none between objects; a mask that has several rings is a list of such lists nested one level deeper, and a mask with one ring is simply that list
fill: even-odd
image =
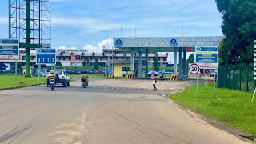
[{"label": "green grass strip left of the road, beneath the billboard pole", "polygon": [[36,84],[45,84],[46,78],[42,77],[40,78],[40,81],[38,81],[38,77],[29,77],[26,78],[23,75],[18,75],[17,78],[17,84],[14,84],[14,75],[1,75],[0,76],[0,90],[6,89],[6,88],[15,88],[20,86],[32,86]]}]

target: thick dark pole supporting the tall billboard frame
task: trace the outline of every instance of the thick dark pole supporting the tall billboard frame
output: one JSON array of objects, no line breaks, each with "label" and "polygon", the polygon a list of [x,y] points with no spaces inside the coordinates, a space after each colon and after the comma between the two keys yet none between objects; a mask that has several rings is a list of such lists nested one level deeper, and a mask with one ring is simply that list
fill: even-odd
[{"label": "thick dark pole supporting the tall billboard frame", "polygon": [[26,0],[26,77],[30,77],[30,2],[31,0]]}]

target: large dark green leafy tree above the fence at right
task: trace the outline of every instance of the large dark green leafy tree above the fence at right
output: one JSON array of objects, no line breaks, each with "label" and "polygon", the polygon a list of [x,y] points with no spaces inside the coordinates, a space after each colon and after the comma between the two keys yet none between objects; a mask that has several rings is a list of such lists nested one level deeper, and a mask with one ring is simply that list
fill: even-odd
[{"label": "large dark green leafy tree above the fence at right", "polygon": [[256,39],[255,0],[215,0],[222,13],[222,32],[226,36],[220,43],[219,64],[237,65],[254,62]]}]

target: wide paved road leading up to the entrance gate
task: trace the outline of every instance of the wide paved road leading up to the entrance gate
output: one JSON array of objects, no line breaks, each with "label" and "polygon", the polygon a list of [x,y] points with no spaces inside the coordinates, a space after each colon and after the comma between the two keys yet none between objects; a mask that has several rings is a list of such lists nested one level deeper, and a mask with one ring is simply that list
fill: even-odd
[{"label": "wide paved road leading up to the entrance gate", "polygon": [[0,143],[246,143],[165,98],[186,82],[90,80],[0,91]]}]

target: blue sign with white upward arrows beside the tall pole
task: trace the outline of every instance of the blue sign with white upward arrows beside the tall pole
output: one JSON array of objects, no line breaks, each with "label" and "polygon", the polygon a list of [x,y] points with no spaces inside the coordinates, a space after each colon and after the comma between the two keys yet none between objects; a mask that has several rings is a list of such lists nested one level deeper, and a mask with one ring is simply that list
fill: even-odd
[{"label": "blue sign with white upward arrows beside the tall pole", "polygon": [[56,64],[56,50],[55,49],[38,49],[37,50],[37,64]]}]

